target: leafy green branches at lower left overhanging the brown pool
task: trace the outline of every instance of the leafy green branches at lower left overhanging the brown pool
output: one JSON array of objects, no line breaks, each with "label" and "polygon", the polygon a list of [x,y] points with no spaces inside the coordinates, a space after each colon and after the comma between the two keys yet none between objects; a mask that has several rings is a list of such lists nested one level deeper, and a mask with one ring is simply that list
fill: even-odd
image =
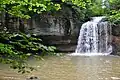
[{"label": "leafy green branches at lower left overhanging the brown pool", "polygon": [[55,55],[54,46],[45,46],[36,35],[24,33],[0,33],[0,62],[11,64],[11,68],[25,73],[34,70],[26,63],[30,56],[41,58],[44,55]]}]

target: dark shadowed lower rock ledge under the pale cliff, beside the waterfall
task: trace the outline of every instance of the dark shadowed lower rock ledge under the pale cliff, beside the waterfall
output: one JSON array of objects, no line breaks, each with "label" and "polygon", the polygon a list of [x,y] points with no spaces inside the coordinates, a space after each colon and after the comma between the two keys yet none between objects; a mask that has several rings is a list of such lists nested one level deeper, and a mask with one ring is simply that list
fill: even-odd
[{"label": "dark shadowed lower rock ledge under the pale cliff, beside the waterfall", "polygon": [[44,44],[56,46],[58,52],[74,52],[77,36],[39,36]]}]

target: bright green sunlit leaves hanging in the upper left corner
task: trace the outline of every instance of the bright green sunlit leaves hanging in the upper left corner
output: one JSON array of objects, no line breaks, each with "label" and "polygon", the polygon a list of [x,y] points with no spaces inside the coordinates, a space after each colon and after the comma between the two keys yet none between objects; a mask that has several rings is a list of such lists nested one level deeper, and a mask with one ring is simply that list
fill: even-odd
[{"label": "bright green sunlit leaves hanging in the upper left corner", "polygon": [[31,14],[59,10],[59,4],[53,4],[51,0],[1,0],[0,11],[5,11],[13,16],[30,18]]}]

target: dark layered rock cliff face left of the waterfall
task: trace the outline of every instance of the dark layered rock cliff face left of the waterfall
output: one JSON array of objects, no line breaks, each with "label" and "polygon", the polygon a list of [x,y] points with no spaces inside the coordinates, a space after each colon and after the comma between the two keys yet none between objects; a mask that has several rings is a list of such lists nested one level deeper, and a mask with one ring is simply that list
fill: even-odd
[{"label": "dark layered rock cliff face left of the waterfall", "polygon": [[9,32],[33,33],[43,39],[44,44],[54,45],[59,52],[74,52],[81,21],[77,20],[71,8],[53,14],[34,15],[29,20],[14,18],[10,15],[0,17],[0,30],[4,26]]}]

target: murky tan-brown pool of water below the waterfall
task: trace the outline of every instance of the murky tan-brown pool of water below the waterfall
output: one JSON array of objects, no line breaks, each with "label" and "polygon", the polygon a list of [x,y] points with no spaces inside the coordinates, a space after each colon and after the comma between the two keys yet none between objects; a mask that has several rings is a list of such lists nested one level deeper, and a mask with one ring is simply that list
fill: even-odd
[{"label": "murky tan-brown pool of water below the waterfall", "polygon": [[29,76],[41,80],[120,80],[120,57],[115,56],[45,57],[29,63],[37,71],[24,75],[0,65],[0,80],[25,80]]}]

